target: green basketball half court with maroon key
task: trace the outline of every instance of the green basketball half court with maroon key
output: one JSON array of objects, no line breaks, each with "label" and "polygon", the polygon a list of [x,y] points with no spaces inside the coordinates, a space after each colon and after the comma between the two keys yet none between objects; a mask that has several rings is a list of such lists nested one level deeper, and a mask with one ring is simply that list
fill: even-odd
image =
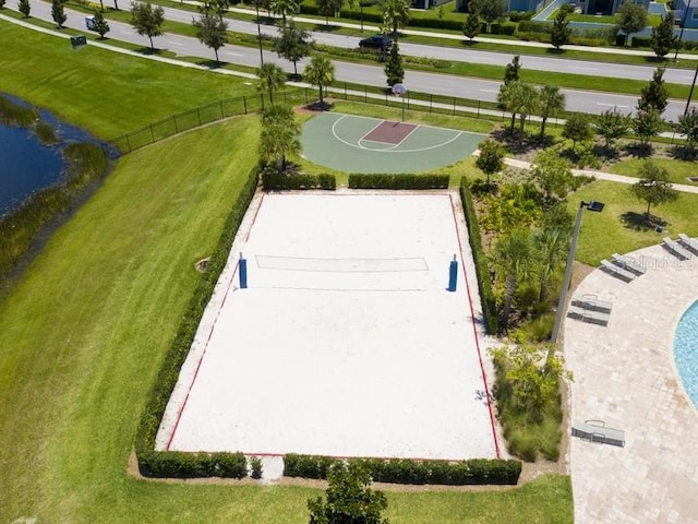
[{"label": "green basketball half court with maroon key", "polygon": [[303,156],[349,172],[420,172],[470,156],[485,135],[323,112],[303,126]]}]

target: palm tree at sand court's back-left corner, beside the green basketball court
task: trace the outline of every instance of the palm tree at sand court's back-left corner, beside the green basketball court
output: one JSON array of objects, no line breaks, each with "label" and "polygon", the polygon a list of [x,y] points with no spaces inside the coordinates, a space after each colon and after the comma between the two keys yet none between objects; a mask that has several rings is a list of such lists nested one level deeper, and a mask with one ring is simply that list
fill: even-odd
[{"label": "palm tree at sand court's back-left corner, beside the green basketball court", "polygon": [[262,133],[260,134],[260,155],[266,162],[277,162],[277,168],[286,171],[287,157],[301,152],[301,127],[296,121],[293,109],[288,106],[274,106],[262,114]]}]

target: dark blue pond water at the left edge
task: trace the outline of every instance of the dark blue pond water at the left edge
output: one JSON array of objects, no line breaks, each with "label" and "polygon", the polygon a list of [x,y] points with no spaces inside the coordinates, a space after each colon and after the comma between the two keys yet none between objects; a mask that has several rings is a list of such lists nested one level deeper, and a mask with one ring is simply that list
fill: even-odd
[{"label": "dark blue pond water at the left edge", "polygon": [[[28,104],[11,95],[0,93],[0,96],[28,107]],[[56,144],[43,144],[28,128],[0,122],[0,216],[17,207],[33,192],[60,181],[65,169],[61,156],[65,145],[71,142],[101,144],[86,131],[59,121],[44,109],[39,109],[39,116],[53,128],[58,136]],[[116,152],[108,152],[113,157]]]}]

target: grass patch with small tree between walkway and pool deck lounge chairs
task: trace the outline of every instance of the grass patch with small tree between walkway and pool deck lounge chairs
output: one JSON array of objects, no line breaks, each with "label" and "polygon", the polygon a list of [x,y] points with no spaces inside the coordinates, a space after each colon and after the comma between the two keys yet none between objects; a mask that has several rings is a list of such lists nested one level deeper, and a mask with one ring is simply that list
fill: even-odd
[{"label": "grass patch with small tree between walkway and pool deck lounge chairs", "polygon": [[698,194],[681,193],[676,202],[653,206],[652,215],[666,222],[665,231],[634,225],[641,218],[647,204],[630,193],[630,186],[598,180],[569,195],[568,209],[576,213],[581,200],[598,200],[606,205],[602,213],[587,213],[583,217],[576,260],[599,265],[601,259],[661,242],[667,235],[679,233],[698,236],[695,210]]}]

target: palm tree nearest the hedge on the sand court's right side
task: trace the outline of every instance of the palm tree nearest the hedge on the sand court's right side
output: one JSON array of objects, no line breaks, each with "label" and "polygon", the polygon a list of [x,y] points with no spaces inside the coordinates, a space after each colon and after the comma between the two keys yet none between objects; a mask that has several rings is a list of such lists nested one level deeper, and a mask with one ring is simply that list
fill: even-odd
[{"label": "palm tree nearest the hedge on the sand court's right side", "polygon": [[501,237],[494,245],[494,264],[506,275],[504,305],[500,314],[500,326],[503,331],[506,331],[509,324],[516,286],[520,281],[530,278],[533,260],[533,245],[528,230],[514,230]]}]

